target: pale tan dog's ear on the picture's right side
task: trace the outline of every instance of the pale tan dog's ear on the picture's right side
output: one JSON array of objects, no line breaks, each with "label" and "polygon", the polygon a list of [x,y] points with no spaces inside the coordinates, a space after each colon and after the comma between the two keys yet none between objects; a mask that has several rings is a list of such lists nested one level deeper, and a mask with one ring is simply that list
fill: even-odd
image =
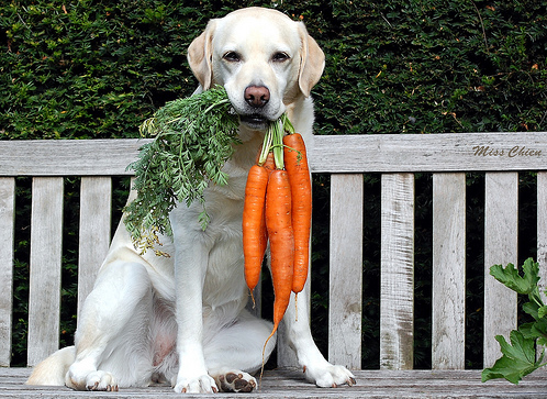
[{"label": "pale tan dog's ear on the picture's right side", "polygon": [[305,26],[299,22],[302,49],[300,54],[299,86],[305,97],[310,96],[312,88],[323,75],[325,68],[325,54],[317,42],[308,34]]}]

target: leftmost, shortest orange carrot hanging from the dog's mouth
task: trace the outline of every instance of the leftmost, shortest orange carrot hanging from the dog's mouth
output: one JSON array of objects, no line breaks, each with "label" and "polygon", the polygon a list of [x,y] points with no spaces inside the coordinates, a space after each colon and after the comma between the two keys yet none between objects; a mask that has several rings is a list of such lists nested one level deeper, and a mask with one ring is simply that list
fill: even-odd
[{"label": "leftmost, shortest orange carrot hanging from the dog's mouth", "polygon": [[[245,280],[253,296],[266,251],[266,225],[264,218],[268,170],[261,166],[250,167],[245,186],[243,206],[243,255],[245,258]],[[255,298],[253,297],[253,302]]]}]

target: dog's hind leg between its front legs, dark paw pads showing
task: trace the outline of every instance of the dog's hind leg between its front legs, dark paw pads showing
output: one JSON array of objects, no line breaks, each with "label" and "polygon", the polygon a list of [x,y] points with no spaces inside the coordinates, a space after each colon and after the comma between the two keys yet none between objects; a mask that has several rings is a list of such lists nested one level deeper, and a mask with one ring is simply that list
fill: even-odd
[{"label": "dog's hind leg between its front legs, dark paw pads showing", "polygon": [[248,392],[256,387],[257,381],[252,375],[268,361],[276,345],[272,337],[264,346],[271,329],[270,322],[243,310],[233,324],[221,328],[214,336],[205,337],[205,362],[221,390]]}]

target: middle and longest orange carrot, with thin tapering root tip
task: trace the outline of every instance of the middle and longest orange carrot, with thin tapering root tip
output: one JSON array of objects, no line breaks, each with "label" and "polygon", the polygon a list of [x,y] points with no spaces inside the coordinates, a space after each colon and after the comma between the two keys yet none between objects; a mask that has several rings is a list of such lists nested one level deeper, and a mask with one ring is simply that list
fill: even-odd
[{"label": "middle and longest orange carrot, with thin tapering root tip", "polygon": [[291,193],[286,170],[271,173],[266,189],[266,229],[270,241],[271,279],[274,282],[274,330],[266,344],[276,333],[289,306],[292,289],[294,237],[291,220]]}]

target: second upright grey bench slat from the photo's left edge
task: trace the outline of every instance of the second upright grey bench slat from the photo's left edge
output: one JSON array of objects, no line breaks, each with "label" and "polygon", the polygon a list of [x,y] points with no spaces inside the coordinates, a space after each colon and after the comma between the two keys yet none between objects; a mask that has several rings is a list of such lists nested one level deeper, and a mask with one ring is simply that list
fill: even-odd
[{"label": "second upright grey bench slat from the photo's left edge", "polygon": [[32,182],[31,276],[29,280],[29,366],[58,348],[63,246],[62,177]]}]

